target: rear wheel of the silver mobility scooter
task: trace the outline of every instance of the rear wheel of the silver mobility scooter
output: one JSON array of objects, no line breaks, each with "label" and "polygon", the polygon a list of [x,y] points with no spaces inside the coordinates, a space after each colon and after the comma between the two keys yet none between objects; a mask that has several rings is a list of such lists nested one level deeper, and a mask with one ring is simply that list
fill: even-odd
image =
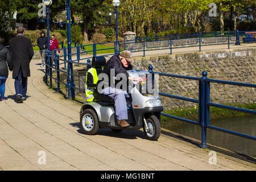
[{"label": "rear wheel of the silver mobility scooter", "polygon": [[98,132],[98,117],[94,110],[86,109],[80,117],[82,131],[86,135],[95,135]]}]

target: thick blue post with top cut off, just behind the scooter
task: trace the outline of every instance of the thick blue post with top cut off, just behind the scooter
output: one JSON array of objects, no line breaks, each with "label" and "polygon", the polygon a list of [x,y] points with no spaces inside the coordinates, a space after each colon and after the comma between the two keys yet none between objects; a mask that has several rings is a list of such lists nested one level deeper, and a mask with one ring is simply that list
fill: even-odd
[{"label": "thick blue post with top cut off, just behind the scooter", "polygon": [[72,55],[71,55],[71,20],[70,20],[70,1],[66,0],[66,10],[67,10],[67,31],[68,31],[68,70],[67,70],[67,90],[68,99],[75,99],[75,90],[73,89],[73,66],[72,66]]}]

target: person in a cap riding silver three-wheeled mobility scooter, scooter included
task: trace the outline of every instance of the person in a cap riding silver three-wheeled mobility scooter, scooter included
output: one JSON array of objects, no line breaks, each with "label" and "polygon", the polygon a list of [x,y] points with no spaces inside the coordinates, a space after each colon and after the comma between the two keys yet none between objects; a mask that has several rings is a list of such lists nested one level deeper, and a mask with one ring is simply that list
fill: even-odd
[{"label": "person in a cap riding silver three-wheeled mobility scooter, scooter included", "polygon": [[140,75],[151,75],[148,71],[132,70],[133,61],[130,51],[112,56],[107,63],[104,57],[93,58],[92,68],[86,75],[86,104],[80,110],[80,123],[85,134],[96,134],[99,127],[113,131],[143,127],[148,139],[159,138],[160,111],[163,110],[160,98],[144,96],[135,87],[130,89],[131,93],[127,93],[126,88],[118,88],[117,77],[120,73],[123,74],[122,81],[139,84],[143,79],[148,80]]}]

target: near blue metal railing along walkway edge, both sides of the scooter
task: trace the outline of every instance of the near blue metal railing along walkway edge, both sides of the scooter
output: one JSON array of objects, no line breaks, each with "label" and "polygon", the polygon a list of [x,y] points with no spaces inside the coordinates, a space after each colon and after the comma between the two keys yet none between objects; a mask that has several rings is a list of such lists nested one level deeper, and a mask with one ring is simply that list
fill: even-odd
[{"label": "near blue metal railing along walkway edge, both sides of the scooter", "polygon": [[[73,67],[73,63],[79,64],[79,65],[86,65],[87,69],[89,69],[90,68],[90,58],[89,57],[86,58],[87,63],[78,63],[77,60],[71,61],[71,62],[68,63],[68,61],[67,61],[67,59],[65,59],[65,57],[64,57],[64,59],[60,59],[60,56],[56,54],[56,51],[57,50],[55,50],[55,55],[53,55],[53,56],[49,56],[47,51],[46,51],[47,65],[49,67],[49,69],[46,70],[46,74],[49,76],[50,86],[52,86],[52,79],[55,80],[57,82],[57,92],[60,92],[60,84],[64,84],[67,88],[67,83],[60,81],[60,72],[63,72],[63,73],[66,73],[66,74],[67,74],[67,72],[60,69],[59,61],[63,61],[63,63],[66,63],[66,64],[70,64],[71,67]],[[51,64],[51,61],[49,61],[49,58],[56,60],[55,65]],[[57,72],[57,77],[56,78],[54,78],[52,76],[52,69],[55,69],[56,72]],[[210,125],[210,122],[209,122],[209,115],[210,115],[209,107],[210,106],[220,107],[222,109],[240,111],[240,112],[243,112],[243,113],[256,114],[255,110],[248,110],[248,109],[243,109],[243,108],[239,108],[239,107],[232,107],[232,106],[215,104],[215,103],[210,102],[209,101],[209,98],[210,98],[210,82],[215,82],[215,83],[219,83],[219,84],[246,86],[246,87],[251,87],[251,88],[256,88],[255,84],[247,84],[247,83],[242,83],[242,82],[232,82],[232,81],[224,81],[224,80],[214,80],[214,79],[210,79],[210,78],[207,77],[207,72],[203,72],[202,77],[192,77],[192,76],[181,76],[181,75],[173,75],[173,74],[169,74],[169,73],[154,72],[153,67],[151,65],[148,67],[148,69],[149,69],[150,73],[158,74],[159,76],[175,77],[175,78],[198,81],[198,83],[199,83],[199,96],[198,96],[197,100],[193,99],[193,98],[175,96],[175,95],[172,95],[172,94],[162,93],[162,92],[159,92],[159,95],[163,96],[163,97],[175,98],[177,100],[193,102],[193,103],[196,103],[196,104],[199,105],[199,117],[198,117],[199,119],[198,119],[198,121],[192,121],[192,120],[189,120],[189,119],[176,117],[175,115],[170,115],[170,114],[166,114],[166,113],[161,113],[161,114],[163,116],[174,118],[174,119],[177,119],[179,121],[188,122],[188,123],[192,123],[194,125],[201,126],[201,146],[200,146],[201,148],[206,148],[207,147],[207,138],[206,138],[207,128],[222,131],[224,133],[237,135],[239,137],[243,137],[243,138],[247,138],[247,139],[256,140],[256,137],[254,137],[254,136],[250,136],[250,135],[246,135],[246,134],[242,134],[242,133],[237,133],[235,131],[226,130],[226,129],[222,129],[220,127],[212,126],[212,125]],[[72,80],[74,80],[74,77],[78,77],[78,75],[75,75],[73,73],[73,69],[71,69],[70,76],[71,76],[70,79],[72,79]],[[75,99],[75,90],[79,90],[80,88],[76,88],[75,82],[72,82],[71,89],[72,89],[71,93],[73,94],[72,99]]]}]

